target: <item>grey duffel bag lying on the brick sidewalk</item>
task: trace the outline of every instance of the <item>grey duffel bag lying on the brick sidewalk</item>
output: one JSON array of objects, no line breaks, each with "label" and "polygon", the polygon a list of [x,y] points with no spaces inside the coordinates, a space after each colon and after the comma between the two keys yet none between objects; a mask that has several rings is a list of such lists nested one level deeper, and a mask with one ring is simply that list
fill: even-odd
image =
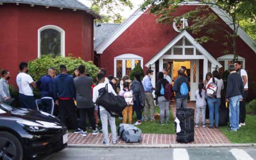
[{"label": "grey duffel bag lying on the brick sidewalk", "polygon": [[126,143],[139,143],[141,141],[141,133],[141,129],[133,126],[133,124],[121,123],[117,130],[118,137]]}]

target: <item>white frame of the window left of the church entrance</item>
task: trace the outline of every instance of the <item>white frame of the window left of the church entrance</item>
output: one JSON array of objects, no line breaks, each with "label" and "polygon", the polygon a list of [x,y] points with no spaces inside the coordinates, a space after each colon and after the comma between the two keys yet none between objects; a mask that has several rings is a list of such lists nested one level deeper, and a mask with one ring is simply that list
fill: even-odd
[{"label": "white frame of the window left of the church entrance", "polygon": [[135,60],[140,60],[140,66],[143,68],[143,58],[135,54],[122,54],[114,58],[114,77],[117,77],[117,60],[122,61],[122,77],[126,74],[126,63],[125,60],[132,60],[132,69],[135,67]]}]

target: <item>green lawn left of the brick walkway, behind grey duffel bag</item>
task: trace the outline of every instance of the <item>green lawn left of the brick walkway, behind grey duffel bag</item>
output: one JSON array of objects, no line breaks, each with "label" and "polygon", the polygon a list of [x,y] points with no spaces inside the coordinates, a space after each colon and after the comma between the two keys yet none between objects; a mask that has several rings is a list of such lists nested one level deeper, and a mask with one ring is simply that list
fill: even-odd
[{"label": "green lawn left of the brick walkway, behind grey duffel bag", "polygon": [[[155,112],[160,113],[158,106],[155,107]],[[136,121],[137,121],[136,112],[134,112],[132,123],[135,123]],[[88,122],[89,122],[88,118],[87,118],[86,122],[88,124]],[[116,118],[117,128],[119,127],[120,123],[123,123],[123,120],[119,120],[117,117]],[[100,124],[101,124],[101,122],[99,121],[99,126],[100,126]],[[176,134],[173,124],[174,124],[174,118],[172,116],[172,112],[171,112],[171,108],[170,108],[170,118],[169,118],[168,124],[165,123],[164,125],[160,125],[160,120],[156,120],[155,122],[150,122],[150,121],[142,122],[137,127],[142,130],[142,133]],[[73,130],[69,130],[69,132],[73,132]],[[91,133],[91,132],[92,132],[92,130],[89,130],[87,128],[87,133]],[[108,127],[108,132],[111,133],[110,127]]]}]

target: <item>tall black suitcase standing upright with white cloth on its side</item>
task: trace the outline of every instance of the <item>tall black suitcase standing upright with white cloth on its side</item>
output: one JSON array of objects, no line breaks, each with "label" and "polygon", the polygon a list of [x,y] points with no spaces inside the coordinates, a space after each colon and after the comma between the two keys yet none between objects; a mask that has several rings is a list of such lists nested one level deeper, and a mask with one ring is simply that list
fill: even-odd
[{"label": "tall black suitcase standing upright with white cloth on its side", "polygon": [[[176,109],[176,117],[180,121],[181,131],[176,133],[176,141],[179,143],[189,143],[194,141],[194,114],[195,110],[192,108]],[[177,123],[175,122],[175,130]]]}]

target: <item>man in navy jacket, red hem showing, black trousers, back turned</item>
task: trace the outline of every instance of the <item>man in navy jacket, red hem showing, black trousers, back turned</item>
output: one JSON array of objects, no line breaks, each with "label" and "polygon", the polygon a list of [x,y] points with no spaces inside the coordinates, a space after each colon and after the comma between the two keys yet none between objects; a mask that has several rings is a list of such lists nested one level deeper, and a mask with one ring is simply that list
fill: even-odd
[{"label": "man in navy jacket, red hem showing, black trousers, back turned", "polygon": [[59,105],[60,121],[66,124],[66,114],[69,116],[69,122],[74,130],[74,133],[81,133],[78,128],[77,118],[75,115],[75,85],[74,79],[67,74],[67,68],[64,64],[59,66],[60,74],[54,80],[54,99]]}]

